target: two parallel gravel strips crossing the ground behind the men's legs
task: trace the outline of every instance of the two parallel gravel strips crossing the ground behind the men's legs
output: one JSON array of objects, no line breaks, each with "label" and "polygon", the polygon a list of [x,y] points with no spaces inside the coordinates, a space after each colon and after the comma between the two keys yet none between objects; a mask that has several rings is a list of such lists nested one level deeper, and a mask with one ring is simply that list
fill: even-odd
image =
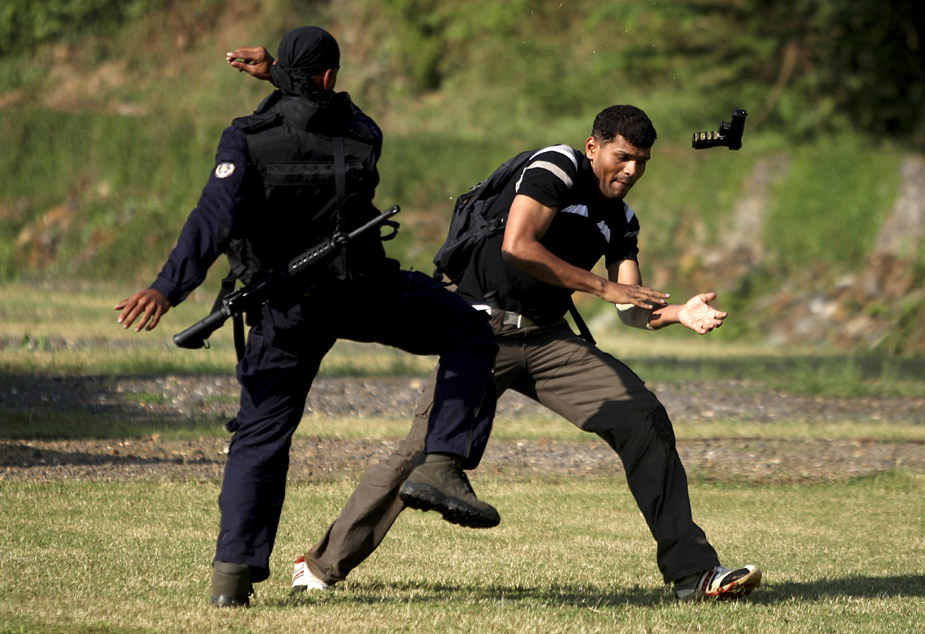
[{"label": "two parallel gravel strips crossing the ground behind the men's legs", "polygon": [[[309,414],[388,416],[410,412],[421,382],[416,379],[319,379],[306,406]],[[652,386],[676,425],[714,419],[739,420],[755,428],[754,438],[681,440],[688,472],[707,479],[748,482],[808,482],[873,475],[893,468],[925,473],[920,442],[852,440],[767,440],[763,424],[789,422],[888,421],[925,423],[925,399],[822,399],[762,392],[733,381]],[[228,416],[235,409],[233,377],[73,377],[8,380],[0,387],[4,411],[49,407],[86,408],[88,415],[119,412],[130,418],[182,420]],[[144,395],[145,398],[138,398]],[[524,416],[552,416],[517,394],[499,403],[498,425]],[[563,422],[562,424],[567,424]],[[388,455],[397,441],[300,438],[293,444],[294,482],[355,478]],[[0,479],[196,479],[218,480],[226,439],[34,440],[0,438]],[[578,476],[622,471],[603,442],[492,440],[479,473],[511,477]]]}]

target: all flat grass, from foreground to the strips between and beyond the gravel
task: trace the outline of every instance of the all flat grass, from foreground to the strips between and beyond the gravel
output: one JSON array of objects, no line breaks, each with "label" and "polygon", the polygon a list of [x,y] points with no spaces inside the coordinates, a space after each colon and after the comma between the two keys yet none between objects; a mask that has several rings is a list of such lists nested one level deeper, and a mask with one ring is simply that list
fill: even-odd
[{"label": "all flat grass, from foreground to the strips between and beyond the gravel", "polygon": [[[153,333],[122,331],[114,288],[12,285],[0,301],[0,375],[228,374],[230,342],[181,351],[169,335],[199,319],[207,294]],[[743,379],[754,389],[859,402],[921,398],[921,360],[767,349],[705,338],[605,334],[658,381]],[[643,336],[646,333],[642,333]],[[717,343],[719,342],[719,343]],[[335,349],[329,376],[424,376],[432,359],[370,348]],[[0,388],[0,394],[4,388]],[[157,395],[133,398],[154,399]],[[17,414],[17,416],[21,415]],[[33,423],[96,437],[106,421],[42,410]],[[148,421],[151,423],[151,421]],[[358,435],[400,437],[407,421],[359,421]],[[0,444],[22,429],[0,402]],[[156,423],[156,421],[154,421]],[[202,429],[211,425],[202,423]],[[336,435],[338,421],[312,421]],[[922,425],[871,421],[762,428],[776,438],[873,437],[921,442]],[[130,428],[124,433],[131,435]],[[137,431],[150,434],[151,429]],[[166,432],[165,432],[166,433]],[[197,433],[187,430],[185,433]],[[678,436],[737,437],[717,420]],[[750,430],[750,433],[754,433]],[[535,420],[499,437],[573,439]],[[183,437],[176,432],[177,437]],[[3,467],[15,469],[14,466]],[[436,514],[405,513],[348,582],[291,599],[292,560],[322,533],[354,482],[290,487],[271,566],[250,610],[206,606],[218,512],[217,481],[5,480],[0,473],[0,634],[17,632],[925,632],[925,477],[904,471],[805,485],[694,480],[695,518],[728,565],[754,562],[764,587],[746,601],[679,605],[621,477],[474,476],[502,524],[470,531]]]}]

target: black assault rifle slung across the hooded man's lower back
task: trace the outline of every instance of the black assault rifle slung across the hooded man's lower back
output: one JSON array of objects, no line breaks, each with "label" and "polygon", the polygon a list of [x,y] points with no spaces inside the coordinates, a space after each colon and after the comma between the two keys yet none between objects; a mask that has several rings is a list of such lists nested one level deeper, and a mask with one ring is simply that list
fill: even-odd
[{"label": "black assault rifle slung across the hooded man's lower back", "polygon": [[241,315],[246,311],[254,310],[267,303],[283,284],[301,275],[316,264],[334,256],[354,238],[384,224],[393,228],[393,233],[390,235],[394,235],[394,229],[398,225],[395,222],[391,222],[389,218],[399,211],[398,205],[395,205],[394,207],[386,209],[377,217],[358,229],[354,229],[350,233],[335,233],[330,238],[325,238],[304,253],[294,257],[289,261],[285,269],[274,271],[253,284],[249,284],[229,293],[222,300],[220,308],[213,311],[207,317],[199,320],[183,332],[175,334],[173,336],[173,342],[181,348],[188,348],[190,350],[208,348],[209,336],[221,328],[222,324],[224,324],[229,317]]}]

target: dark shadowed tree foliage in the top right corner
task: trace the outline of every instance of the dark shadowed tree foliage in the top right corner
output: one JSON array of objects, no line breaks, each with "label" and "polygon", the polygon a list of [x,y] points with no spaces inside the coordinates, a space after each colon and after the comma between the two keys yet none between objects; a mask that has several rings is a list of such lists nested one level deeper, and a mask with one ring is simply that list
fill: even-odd
[{"label": "dark shadowed tree foliage in the top right corner", "polygon": [[727,86],[768,87],[761,118],[796,136],[850,127],[925,143],[920,0],[695,0],[687,10],[667,55],[699,60]]}]

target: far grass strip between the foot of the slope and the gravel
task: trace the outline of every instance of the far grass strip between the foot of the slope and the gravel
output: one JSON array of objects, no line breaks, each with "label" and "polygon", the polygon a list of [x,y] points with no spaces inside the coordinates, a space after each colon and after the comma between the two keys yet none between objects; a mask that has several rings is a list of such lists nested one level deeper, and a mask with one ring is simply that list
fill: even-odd
[{"label": "far grass strip between the foot of the slope and the gravel", "polygon": [[[151,332],[125,330],[113,306],[136,288],[113,284],[4,286],[0,305],[0,372],[46,375],[231,374],[231,328],[215,333],[208,350],[182,350],[171,337],[208,314],[218,280],[210,278],[172,309]],[[818,348],[783,348],[714,336],[635,332],[595,320],[602,349],[627,362],[650,383],[703,380],[751,382],[755,389],[818,395],[922,398],[925,361],[917,357],[845,354]],[[719,334],[719,333],[718,333]],[[338,342],[321,376],[426,377],[435,357],[385,346]],[[744,388],[748,389],[748,388]]]}]

